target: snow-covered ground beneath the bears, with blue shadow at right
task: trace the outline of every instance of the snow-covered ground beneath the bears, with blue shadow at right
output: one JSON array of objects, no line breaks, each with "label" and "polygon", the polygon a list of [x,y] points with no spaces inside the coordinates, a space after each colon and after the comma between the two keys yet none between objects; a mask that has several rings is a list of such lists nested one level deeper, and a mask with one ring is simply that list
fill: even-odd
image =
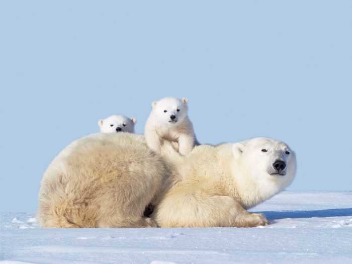
[{"label": "snow-covered ground beneath the bears, with blue shadow at right", "polygon": [[271,225],[42,229],[1,213],[0,263],[352,263],[352,192],[284,192],[251,211]]}]

